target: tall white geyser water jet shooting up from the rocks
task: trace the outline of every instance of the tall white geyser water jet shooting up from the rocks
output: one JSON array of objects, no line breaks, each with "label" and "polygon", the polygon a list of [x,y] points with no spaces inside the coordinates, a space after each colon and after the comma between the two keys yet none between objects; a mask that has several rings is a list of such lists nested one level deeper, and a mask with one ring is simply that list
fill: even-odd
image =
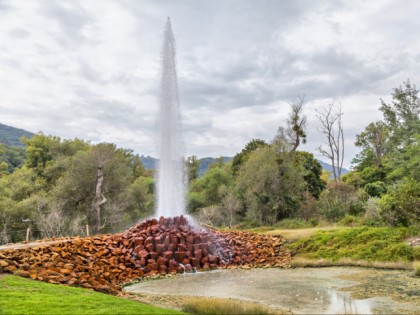
[{"label": "tall white geyser water jet shooting up from the rocks", "polygon": [[165,24],[159,113],[157,217],[185,213],[184,148],[181,135],[175,40],[171,20]]}]

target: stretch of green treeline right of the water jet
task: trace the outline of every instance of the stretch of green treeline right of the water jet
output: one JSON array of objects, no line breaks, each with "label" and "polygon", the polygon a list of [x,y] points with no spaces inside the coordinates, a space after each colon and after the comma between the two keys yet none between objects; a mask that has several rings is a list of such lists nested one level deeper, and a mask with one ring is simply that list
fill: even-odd
[{"label": "stretch of green treeline right of the water jet", "polygon": [[297,150],[306,140],[303,98],[291,103],[287,126],[271,143],[252,140],[199,178],[196,159],[188,159],[189,211],[217,226],[420,225],[418,92],[408,81],[393,90],[389,104],[381,100],[384,119],[357,135],[362,151],[343,176],[341,108],[330,104],[318,112],[327,143],[319,151],[336,167],[333,180],[311,153]]}]

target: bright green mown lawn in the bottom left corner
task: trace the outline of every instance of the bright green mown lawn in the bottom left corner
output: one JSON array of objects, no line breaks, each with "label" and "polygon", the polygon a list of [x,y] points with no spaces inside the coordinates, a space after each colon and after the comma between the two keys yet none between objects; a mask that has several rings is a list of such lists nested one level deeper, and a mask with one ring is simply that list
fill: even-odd
[{"label": "bright green mown lawn in the bottom left corner", "polygon": [[0,314],[183,314],[82,288],[0,275]]}]

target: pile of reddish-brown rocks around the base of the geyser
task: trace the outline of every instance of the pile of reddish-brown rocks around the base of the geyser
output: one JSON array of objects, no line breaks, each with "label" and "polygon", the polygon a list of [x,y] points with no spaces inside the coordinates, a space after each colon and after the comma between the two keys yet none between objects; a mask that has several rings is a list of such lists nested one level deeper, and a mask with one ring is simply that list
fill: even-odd
[{"label": "pile of reddish-brown rocks around the base of the geyser", "polygon": [[281,236],[193,227],[185,217],[146,220],[121,234],[0,252],[0,272],[116,293],[142,276],[232,267],[285,267]]}]

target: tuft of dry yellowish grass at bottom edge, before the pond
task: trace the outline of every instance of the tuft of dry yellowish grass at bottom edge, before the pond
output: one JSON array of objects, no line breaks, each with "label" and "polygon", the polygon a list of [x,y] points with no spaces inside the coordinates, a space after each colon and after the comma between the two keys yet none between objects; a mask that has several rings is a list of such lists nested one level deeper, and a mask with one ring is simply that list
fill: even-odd
[{"label": "tuft of dry yellowish grass at bottom edge, before the pond", "polygon": [[182,310],[191,314],[291,314],[265,305],[233,299],[191,297]]}]

